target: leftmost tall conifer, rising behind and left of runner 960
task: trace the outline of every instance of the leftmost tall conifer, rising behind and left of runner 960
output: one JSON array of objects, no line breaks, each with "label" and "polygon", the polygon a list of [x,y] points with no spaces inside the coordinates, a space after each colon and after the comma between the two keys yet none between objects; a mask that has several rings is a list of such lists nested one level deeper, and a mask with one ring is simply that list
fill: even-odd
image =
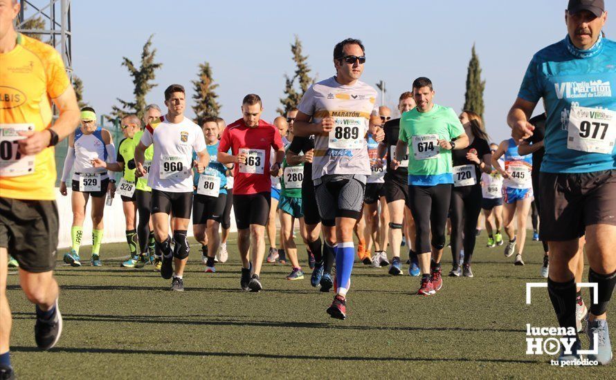
[{"label": "leftmost tall conifer, rising behind and left of runner 960", "polygon": [[133,77],[133,84],[135,85],[133,93],[135,95],[135,99],[134,102],[127,102],[118,97],[117,99],[121,104],[121,108],[118,106],[113,106],[111,115],[114,117],[108,117],[109,120],[114,120],[116,117],[123,117],[127,113],[136,113],[138,117],[143,117],[143,109],[146,106],[145,95],[147,95],[152,88],[158,86],[158,84],[152,83],[152,81],[156,78],[156,74],[154,72],[163,66],[163,64],[154,63],[156,49],[150,51],[150,46],[152,46],[152,37],[154,37],[154,35],[151,35],[145,42],[145,45],[143,45],[143,50],[141,51],[140,68],[136,68],[133,61],[127,57],[122,57],[122,66],[126,66],[129,75]]}]

